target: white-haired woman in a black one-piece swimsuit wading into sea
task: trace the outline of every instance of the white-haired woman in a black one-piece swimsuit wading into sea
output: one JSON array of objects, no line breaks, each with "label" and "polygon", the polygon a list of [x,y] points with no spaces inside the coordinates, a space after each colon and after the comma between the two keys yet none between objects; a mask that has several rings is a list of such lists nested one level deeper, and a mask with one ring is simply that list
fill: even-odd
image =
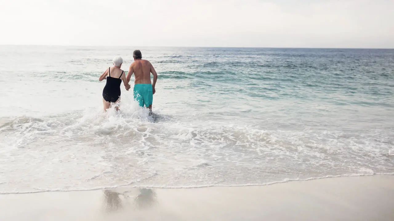
[{"label": "white-haired woman in a black one-piece swimsuit wading into sea", "polygon": [[107,83],[102,90],[102,102],[104,104],[104,111],[110,108],[114,103],[116,110],[119,110],[118,102],[121,96],[121,83],[126,87],[126,90],[130,89],[130,85],[127,83],[126,74],[121,69],[123,59],[121,56],[113,58],[113,67],[109,67],[105,70],[99,78],[99,81],[107,79]]}]

